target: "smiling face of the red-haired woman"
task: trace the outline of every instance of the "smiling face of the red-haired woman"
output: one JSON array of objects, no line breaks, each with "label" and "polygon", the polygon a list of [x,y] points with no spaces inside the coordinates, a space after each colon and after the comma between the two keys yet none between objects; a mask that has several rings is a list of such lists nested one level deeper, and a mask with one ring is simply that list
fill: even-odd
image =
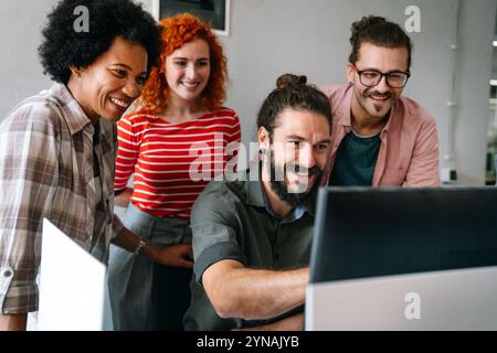
[{"label": "smiling face of the red-haired woman", "polygon": [[166,58],[166,81],[173,100],[195,101],[210,75],[209,44],[204,40],[186,43]]}]

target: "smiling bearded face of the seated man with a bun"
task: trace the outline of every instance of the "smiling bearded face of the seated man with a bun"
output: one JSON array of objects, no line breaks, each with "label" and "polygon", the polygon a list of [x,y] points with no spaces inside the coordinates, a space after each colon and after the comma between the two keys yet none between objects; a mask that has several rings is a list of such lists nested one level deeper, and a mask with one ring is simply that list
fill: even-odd
[{"label": "smiling bearded face of the seated man with a bun", "polygon": [[[264,128],[260,146],[271,150],[271,188],[292,206],[319,182],[330,145],[330,126],[325,116],[286,108],[269,138]],[[278,175],[279,174],[279,175]],[[278,178],[279,176],[279,178]]]}]

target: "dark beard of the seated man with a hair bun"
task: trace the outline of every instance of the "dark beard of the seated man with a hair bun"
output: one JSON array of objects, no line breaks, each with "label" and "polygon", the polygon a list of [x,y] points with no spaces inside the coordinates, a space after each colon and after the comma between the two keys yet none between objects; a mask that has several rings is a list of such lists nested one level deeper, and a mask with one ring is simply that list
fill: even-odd
[{"label": "dark beard of the seated man with a hair bun", "polygon": [[[295,170],[298,171],[298,165],[296,165]],[[286,171],[284,173],[286,173]],[[292,208],[306,204],[310,195],[313,195],[319,188],[320,181],[322,179],[322,171],[315,165],[309,170],[309,176],[311,175],[316,175],[316,180],[313,188],[310,188],[308,192],[289,193],[288,185],[285,183],[285,181],[276,180],[276,165],[273,159],[271,160],[271,190],[273,190],[273,192],[278,196],[281,201],[286,202],[288,205],[290,205]]]}]

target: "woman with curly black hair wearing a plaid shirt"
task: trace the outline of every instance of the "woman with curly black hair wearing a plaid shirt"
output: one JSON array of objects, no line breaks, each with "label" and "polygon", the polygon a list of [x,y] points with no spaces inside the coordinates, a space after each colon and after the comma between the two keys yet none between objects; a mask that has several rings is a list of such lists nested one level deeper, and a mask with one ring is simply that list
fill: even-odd
[{"label": "woman with curly black hair wearing a plaid shirt", "polygon": [[0,330],[25,329],[38,310],[45,217],[104,263],[113,242],[170,264],[173,249],[145,244],[113,212],[115,122],[160,51],[157,24],[130,0],[62,0],[49,14],[39,52],[54,84],[0,125]]}]

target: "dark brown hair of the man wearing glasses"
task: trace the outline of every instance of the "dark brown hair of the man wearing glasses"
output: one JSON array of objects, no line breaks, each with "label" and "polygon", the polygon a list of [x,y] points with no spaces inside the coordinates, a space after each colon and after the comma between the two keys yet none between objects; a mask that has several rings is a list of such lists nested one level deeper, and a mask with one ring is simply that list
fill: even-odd
[{"label": "dark brown hair of the man wearing glasses", "polygon": [[408,68],[411,67],[412,42],[409,35],[396,23],[378,15],[363,17],[351,25],[350,44],[352,52],[349,62],[356,64],[359,60],[359,49],[362,43],[371,43],[384,47],[405,47],[408,50]]}]

